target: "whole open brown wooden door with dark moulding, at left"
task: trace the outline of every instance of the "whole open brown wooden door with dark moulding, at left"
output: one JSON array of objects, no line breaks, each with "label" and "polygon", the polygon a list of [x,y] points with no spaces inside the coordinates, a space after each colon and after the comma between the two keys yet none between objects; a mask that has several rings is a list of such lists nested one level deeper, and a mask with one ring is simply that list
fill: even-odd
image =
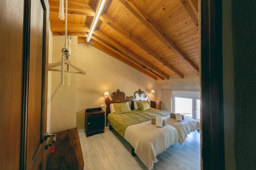
[{"label": "whole open brown wooden door with dark moulding, at left", "polygon": [[46,0],[0,1],[0,169],[45,168],[46,9]]}]

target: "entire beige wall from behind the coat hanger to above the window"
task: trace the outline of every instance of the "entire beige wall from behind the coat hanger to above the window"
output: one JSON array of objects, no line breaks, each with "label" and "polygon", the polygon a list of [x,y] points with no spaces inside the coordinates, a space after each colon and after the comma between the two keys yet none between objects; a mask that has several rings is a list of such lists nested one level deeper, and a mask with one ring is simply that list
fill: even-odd
[{"label": "entire beige wall from behind the coat hanger to above the window", "polygon": [[[63,36],[53,37],[52,62],[60,61],[63,41]],[[104,91],[112,93],[120,89],[126,96],[131,96],[139,88],[143,91],[154,89],[156,94],[151,94],[150,100],[162,100],[163,110],[166,111],[172,110],[173,90],[200,91],[197,76],[155,81],[97,48],[86,43],[77,44],[75,41],[77,37],[72,37],[71,61],[87,74],[70,74],[70,86],[67,85],[66,74],[66,85],[62,86],[60,72],[51,73],[51,132],[73,127],[83,130],[85,109],[105,104],[102,96]],[[103,109],[105,110],[105,107]]]}]

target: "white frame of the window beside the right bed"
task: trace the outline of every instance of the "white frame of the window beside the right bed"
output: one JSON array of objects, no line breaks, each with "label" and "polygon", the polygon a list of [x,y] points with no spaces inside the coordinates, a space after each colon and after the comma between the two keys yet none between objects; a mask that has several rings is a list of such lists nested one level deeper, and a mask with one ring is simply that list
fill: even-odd
[{"label": "white frame of the window beside the right bed", "polygon": [[[197,99],[200,100],[199,91],[173,91],[173,113],[175,113],[175,98],[185,98],[192,99],[192,118],[198,120],[197,118]],[[200,108],[199,108],[200,109]],[[199,121],[199,120],[198,120]]]}]

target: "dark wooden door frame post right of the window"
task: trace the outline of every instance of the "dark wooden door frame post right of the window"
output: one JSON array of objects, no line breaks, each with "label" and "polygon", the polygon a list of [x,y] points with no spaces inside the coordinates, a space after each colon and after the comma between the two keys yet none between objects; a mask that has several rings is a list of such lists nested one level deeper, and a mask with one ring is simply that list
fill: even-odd
[{"label": "dark wooden door frame post right of the window", "polygon": [[222,1],[201,0],[202,167],[225,169]]}]

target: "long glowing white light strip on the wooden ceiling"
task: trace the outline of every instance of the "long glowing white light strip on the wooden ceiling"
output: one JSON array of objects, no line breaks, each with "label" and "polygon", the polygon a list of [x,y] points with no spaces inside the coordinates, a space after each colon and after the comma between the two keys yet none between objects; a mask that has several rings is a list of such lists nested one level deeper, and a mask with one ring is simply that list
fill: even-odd
[{"label": "long glowing white light strip on the wooden ceiling", "polygon": [[91,25],[91,28],[90,28],[90,32],[89,32],[88,37],[86,39],[87,42],[89,42],[91,40],[91,37],[93,35],[93,32],[94,32],[95,27],[97,25],[97,22],[99,20],[99,16],[101,15],[101,12],[102,12],[102,10],[104,8],[105,2],[106,2],[106,0],[100,0],[99,1],[99,5],[97,7],[95,16],[93,18],[93,22],[92,22],[92,25]]}]

